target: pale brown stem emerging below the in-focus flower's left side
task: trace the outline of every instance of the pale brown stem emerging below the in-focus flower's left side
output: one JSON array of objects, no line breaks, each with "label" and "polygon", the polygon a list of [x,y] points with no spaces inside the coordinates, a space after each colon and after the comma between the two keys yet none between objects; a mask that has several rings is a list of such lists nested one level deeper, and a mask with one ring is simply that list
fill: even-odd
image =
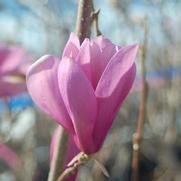
[{"label": "pale brown stem emerging below the in-focus flower's left side", "polygon": [[62,127],[58,132],[56,141],[48,181],[56,181],[64,170],[65,155],[68,146],[68,135]]}]

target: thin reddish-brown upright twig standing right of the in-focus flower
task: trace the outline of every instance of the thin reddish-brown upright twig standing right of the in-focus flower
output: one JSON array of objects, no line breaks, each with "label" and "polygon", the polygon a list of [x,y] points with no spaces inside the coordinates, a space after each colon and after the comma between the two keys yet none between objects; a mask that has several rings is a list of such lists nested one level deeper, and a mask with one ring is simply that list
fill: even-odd
[{"label": "thin reddish-brown upright twig standing right of the in-focus flower", "polygon": [[142,47],[142,56],[141,56],[141,76],[142,76],[142,91],[141,91],[141,101],[139,107],[139,115],[136,132],[133,134],[133,155],[132,155],[132,181],[139,180],[139,157],[140,157],[140,144],[143,134],[145,116],[146,116],[146,105],[147,105],[147,96],[148,96],[148,84],[146,81],[146,68],[145,68],[145,59],[147,52],[147,36],[148,36],[148,27],[147,21],[144,22],[144,43]]}]

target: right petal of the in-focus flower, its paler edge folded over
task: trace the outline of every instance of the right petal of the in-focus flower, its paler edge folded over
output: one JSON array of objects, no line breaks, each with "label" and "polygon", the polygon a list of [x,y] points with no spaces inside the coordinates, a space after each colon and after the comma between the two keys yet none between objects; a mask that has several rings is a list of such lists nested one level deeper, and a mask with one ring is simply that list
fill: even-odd
[{"label": "right petal of the in-focus flower, its paler edge folded over", "polygon": [[95,94],[99,111],[94,130],[97,149],[102,145],[115,114],[132,87],[137,49],[137,45],[121,48],[112,57],[98,82]]}]

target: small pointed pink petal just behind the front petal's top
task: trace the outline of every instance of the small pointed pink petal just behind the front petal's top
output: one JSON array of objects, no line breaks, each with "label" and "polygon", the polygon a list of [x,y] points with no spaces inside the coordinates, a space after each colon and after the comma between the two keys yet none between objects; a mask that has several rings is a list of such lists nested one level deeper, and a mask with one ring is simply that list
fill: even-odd
[{"label": "small pointed pink petal just behind the front petal's top", "polygon": [[90,57],[89,39],[86,38],[81,44],[79,54],[76,58],[76,62],[81,66],[82,70],[84,71],[89,80],[91,80],[90,61],[91,57]]}]

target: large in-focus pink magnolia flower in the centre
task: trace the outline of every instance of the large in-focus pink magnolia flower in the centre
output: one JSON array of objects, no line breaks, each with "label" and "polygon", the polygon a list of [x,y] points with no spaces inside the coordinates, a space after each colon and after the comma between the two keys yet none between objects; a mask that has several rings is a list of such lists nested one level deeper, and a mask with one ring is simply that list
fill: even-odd
[{"label": "large in-focus pink magnolia flower in the centre", "polygon": [[138,45],[116,46],[103,36],[80,45],[71,34],[61,58],[45,55],[30,67],[29,93],[81,151],[97,152],[132,87],[137,50]]}]

